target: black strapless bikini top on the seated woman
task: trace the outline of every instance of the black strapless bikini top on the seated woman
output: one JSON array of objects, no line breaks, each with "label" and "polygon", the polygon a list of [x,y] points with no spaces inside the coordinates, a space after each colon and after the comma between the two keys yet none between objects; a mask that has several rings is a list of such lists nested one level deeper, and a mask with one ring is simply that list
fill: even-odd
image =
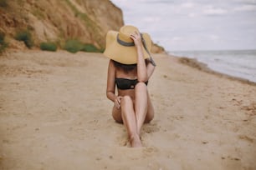
[{"label": "black strapless bikini top on the seated woman", "polygon": [[[128,78],[115,78],[115,83],[117,88],[120,90],[128,90],[128,89],[134,89],[136,87],[136,84],[138,83],[137,79],[128,79]],[[145,82],[147,85],[147,82]]]}]

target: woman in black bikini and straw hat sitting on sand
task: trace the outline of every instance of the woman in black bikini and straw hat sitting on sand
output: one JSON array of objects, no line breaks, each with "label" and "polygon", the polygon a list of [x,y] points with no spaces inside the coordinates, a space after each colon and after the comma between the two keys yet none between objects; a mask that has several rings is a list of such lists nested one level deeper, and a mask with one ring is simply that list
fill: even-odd
[{"label": "woman in black bikini and straw hat sitting on sand", "polygon": [[133,26],[107,33],[104,54],[110,57],[110,62],[106,96],[114,102],[112,116],[116,122],[125,124],[133,148],[141,147],[141,127],[154,117],[147,91],[147,82],[156,66],[150,49],[150,36]]}]

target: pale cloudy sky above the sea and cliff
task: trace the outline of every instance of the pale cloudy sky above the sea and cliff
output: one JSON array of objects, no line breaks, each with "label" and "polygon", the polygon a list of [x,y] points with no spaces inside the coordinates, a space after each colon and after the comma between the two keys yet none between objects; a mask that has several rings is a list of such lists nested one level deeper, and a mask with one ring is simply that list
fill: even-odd
[{"label": "pale cloudy sky above the sea and cliff", "polygon": [[256,0],[111,0],[168,52],[256,49]]}]

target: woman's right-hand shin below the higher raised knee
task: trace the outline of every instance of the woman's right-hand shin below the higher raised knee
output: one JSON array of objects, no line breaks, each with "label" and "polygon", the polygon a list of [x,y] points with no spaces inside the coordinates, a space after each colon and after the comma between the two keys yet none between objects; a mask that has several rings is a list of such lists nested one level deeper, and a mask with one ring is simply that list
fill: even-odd
[{"label": "woman's right-hand shin below the higher raised knee", "polygon": [[141,134],[141,128],[146,119],[148,106],[148,92],[144,82],[138,82],[135,88],[135,112],[137,133]]}]

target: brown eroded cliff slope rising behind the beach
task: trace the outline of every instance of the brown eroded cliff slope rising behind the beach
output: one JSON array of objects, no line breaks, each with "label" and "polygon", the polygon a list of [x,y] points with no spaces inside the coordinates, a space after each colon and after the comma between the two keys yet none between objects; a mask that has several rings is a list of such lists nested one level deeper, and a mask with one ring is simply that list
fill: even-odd
[{"label": "brown eroded cliff slope rising behind the beach", "polygon": [[[66,40],[77,39],[104,49],[106,32],[123,25],[121,9],[110,0],[0,0],[0,32],[9,47],[24,47],[14,37],[27,30],[35,47],[41,42],[62,47]],[[162,50],[153,47],[154,52]]]}]

